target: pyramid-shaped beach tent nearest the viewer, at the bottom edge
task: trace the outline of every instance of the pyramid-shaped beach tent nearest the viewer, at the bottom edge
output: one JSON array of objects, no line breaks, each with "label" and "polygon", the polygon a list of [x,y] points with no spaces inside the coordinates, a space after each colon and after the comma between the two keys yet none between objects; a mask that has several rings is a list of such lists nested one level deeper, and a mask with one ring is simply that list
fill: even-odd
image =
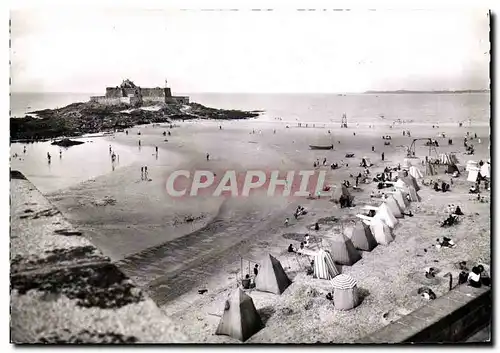
[{"label": "pyramid-shaped beach tent nearest the viewer, at the bottom edge", "polygon": [[226,300],[215,334],[231,336],[244,342],[263,327],[252,298],[238,288]]}]

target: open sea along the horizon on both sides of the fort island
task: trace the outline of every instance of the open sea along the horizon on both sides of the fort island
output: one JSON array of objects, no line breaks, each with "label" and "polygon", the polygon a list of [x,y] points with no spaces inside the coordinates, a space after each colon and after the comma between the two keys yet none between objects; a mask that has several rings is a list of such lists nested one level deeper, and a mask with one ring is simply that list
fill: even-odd
[{"label": "open sea along the horizon on both sides of the fort island", "polygon": [[[98,93],[12,93],[11,116],[85,102]],[[263,111],[261,119],[302,122],[412,121],[414,124],[489,125],[489,93],[460,94],[239,94],[183,93],[192,102],[223,109]]]}]

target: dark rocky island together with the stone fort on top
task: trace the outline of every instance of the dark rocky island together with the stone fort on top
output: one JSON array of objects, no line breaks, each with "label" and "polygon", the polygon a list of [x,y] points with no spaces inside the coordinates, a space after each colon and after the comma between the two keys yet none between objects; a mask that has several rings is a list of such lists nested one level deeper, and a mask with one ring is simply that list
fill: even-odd
[{"label": "dark rocky island together with the stone fort on top", "polygon": [[141,88],[129,80],[106,88],[106,95],[89,102],[29,112],[10,119],[10,139],[39,141],[88,133],[116,131],[134,125],[188,119],[249,119],[257,112],[224,110],[171,95],[170,88]]}]

